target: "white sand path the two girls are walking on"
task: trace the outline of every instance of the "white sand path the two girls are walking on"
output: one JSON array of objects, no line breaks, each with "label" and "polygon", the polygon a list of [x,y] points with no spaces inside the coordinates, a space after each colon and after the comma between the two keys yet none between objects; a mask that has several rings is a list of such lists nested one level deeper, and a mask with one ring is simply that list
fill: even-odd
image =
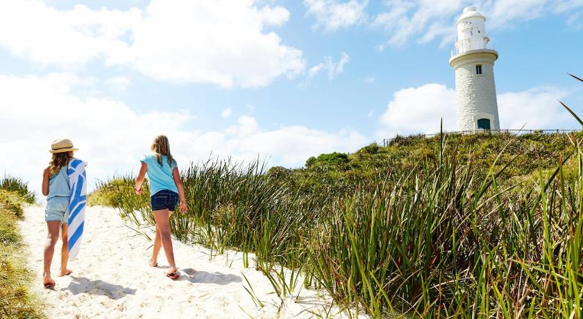
[{"label": "white sand path the two girls are walking on", "polygon": [[[176,240],[174,255],[181,276],[172,282],[164,275],[168,264],[163,249],[158,268],[150,267],[151,241],[126,227],[117,211],[108,207],[87,208],[81,254],[69,263],[74,271],[70,276],[57,276],[61,242],[57,243],[51,268],[56,291],[45,290],[44,208],[24,210],[26,220],[19,225],[30,250],[28,264],[37,277],[32,289],[47,303],[49,318],[248,318],[246,313],[253,318],[312,318],[313,313],[326,317],[328,312],[327,302],[303,289],[297,300],[285,299],[278,314],[282,301],[269,279],[254,268],[243,268],[240,253],[210,261],[207,249]],[[242,274],[265,307],[255,306]],[[330,314],[338,316],[335,310]]]}]

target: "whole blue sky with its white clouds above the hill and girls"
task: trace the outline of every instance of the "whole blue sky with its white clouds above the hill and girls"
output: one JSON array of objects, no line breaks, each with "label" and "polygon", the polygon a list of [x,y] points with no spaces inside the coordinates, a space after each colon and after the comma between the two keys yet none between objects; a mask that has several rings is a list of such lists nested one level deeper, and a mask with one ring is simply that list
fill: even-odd
[{"label": "whole blue sky with its white clouds above the hill and girls", "polygon": [[32,155],[0,160],[4,171],[36,182],[28,168],[63,137],[106,178],[133,169],[159,133],[182,162],[297,167],[436,132],[441,117],[453,130],[448,58],[468,5],[500,54],[502,128],[577,128],[557,98],[583,113],[566,76],[583,74],[583,0],[96,3],[0,5],[0,146]]}]

